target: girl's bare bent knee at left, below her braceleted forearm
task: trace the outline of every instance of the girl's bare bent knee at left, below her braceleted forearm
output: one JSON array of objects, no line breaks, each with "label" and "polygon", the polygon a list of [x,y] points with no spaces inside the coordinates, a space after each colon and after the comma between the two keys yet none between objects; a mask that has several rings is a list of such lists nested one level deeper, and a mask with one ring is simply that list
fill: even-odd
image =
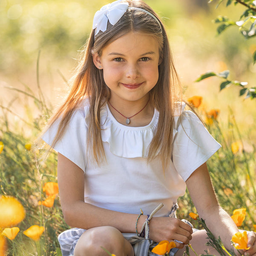
[{"label": "girl's bare bent knee at left, below her braceleted forearm", "polygon": [[131,244],[114,227],[86,230],[76,244],[74,256],[107,256],[101,247],[118,256],[134,256]]}]

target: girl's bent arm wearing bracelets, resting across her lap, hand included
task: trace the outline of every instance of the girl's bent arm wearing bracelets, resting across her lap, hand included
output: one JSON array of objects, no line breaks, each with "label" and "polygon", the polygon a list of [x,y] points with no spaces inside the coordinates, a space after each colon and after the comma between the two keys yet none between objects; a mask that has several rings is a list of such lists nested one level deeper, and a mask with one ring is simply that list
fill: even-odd
[{"label": "girl's bent arm wearing bracelets, resting across her lap, hand included", "polygon": [[[135,223],[140,212],[128,214],[85,203],[84,172],[60,153],[58,153],[58,184],[61,208],[68,225],[82,229],[112,226],[122,233],[136,233]],[[146,218],[145,215],[139,218],[137,225],[139,233]],[[177,239],[188,244],[192,238],[192,228],[177,218],[153,217],[149,225],[150,239],[156,242]],[[182,248],[184,244],[177,243],[177,247]]]}]

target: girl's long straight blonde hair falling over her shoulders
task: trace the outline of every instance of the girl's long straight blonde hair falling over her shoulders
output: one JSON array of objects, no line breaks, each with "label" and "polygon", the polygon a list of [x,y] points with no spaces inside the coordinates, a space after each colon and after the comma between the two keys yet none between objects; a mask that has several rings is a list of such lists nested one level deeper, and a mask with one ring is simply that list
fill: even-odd
[{"label": "girl's long straight blonde hair falling over her shoulders", "polygon": [[103,79],[103,70],[99,70],[93,64],[93,54],[102,54],[102,49],[108,44],[120,38],[122,35],[133,31],[153,36],[159,44],[160,60],[158,66],[159,79],[150,91],[151,103],[159,111],[159,121],[154,137],[149,146],[148,160],[152,160],[160,154],[163,166],[172,157],[172,131],[174,129],[174,102],[177,101],[177,89],[180,92],[180,82],[175,70],[172,54],[166,30],[157,14],[142,0],[123,0],[129,7],[144,9],[159,21],[138,9],[128,9],[121,19],[112,26],[108,22],[107,30],[100,31],[96,36],[94,29],[90,33],[86,47],[79,61],[76,74],[73,76],[72,88],[67,99],[49,120],[49,126],[61,117],[57,135],[52,147],[61,138],[74,111],[79,108],[82,99],[89,99],[90,110],[88,124],[88,142],[96,163],[105,157],[101,138],[100,110],[102,105],[110,98],[110,90]]}]

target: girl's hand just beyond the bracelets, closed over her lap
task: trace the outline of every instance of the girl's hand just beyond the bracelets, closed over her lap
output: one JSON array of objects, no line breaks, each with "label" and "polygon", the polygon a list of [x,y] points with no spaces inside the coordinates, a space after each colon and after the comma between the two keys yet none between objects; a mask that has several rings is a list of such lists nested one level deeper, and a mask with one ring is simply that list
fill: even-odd
[{"label": "girl's hand just beyond the bracelets, closed over her lap", "polygon": [[153,217],[149,222],[149,238],[155,242],[175,241],[177,248],[183,248],[192,239],[192,228],[185,222],[170,217]]}]

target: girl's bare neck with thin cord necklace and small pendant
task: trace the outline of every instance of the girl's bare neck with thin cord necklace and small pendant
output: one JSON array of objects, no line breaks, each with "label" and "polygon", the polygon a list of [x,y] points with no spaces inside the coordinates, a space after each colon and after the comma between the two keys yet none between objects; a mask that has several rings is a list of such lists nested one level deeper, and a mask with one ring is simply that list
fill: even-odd
[{"label": "girl's bare neck with thin cord necklace and small pendant", "polygon": [[[109,109],[117,122],[130,127],[142,127],[148,125],[154,116],[154,107],[150,99],[141,101],[108,102]],[[127,120],[128,119],[128,120]]]}]

